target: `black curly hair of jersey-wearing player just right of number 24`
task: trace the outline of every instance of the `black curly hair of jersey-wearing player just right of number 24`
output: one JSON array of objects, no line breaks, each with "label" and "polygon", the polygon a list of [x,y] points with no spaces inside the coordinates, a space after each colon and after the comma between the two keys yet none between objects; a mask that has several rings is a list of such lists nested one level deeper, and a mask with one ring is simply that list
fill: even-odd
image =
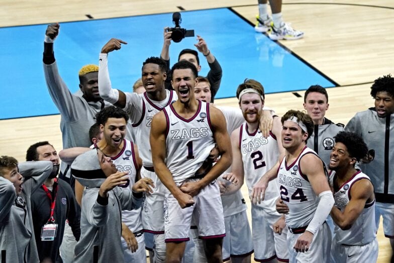
[{"label": "black curly hair of jersey-wearing player just right of number 24", "polygon": [[343,143],[350,157],[356,158],[360,161],[368,153],[368,147],[364,140],[354,132],[340,131],[334,136],[335,143]]}]

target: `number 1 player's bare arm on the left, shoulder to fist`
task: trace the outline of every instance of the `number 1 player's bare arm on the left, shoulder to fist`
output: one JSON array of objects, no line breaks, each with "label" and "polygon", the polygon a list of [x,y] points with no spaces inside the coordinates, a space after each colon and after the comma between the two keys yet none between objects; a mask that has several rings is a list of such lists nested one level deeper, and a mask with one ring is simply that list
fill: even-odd
[{"label": "number 1 player's bare arm on the left, shoulder to fist", "polygon": [[152,161],[156,174],[163,185],[176,198],[181,208],[185,208],[194,204],[193,198],[180,191],[176,186],[172,174],[165,164],[166,143],[165,130],[167,127],[164,112],[157,113],[153,119],[150,130],[150,146],[152,149]]}]

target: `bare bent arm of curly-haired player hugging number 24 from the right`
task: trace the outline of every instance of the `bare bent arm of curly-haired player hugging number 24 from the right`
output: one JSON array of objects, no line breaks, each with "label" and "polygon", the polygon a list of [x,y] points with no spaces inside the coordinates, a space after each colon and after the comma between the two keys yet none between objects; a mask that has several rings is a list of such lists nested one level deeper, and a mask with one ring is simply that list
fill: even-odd
[{"label": "bare bent arm of curly-haired player hugging number 24 from the right", "polygon": [[368,179],[354,183],[350,190],[351,199],[343,211],[337,207],[331,209],[331,217],[342,230],[348,230],[360,216],[366,202],[374,199],[373,186]]}]

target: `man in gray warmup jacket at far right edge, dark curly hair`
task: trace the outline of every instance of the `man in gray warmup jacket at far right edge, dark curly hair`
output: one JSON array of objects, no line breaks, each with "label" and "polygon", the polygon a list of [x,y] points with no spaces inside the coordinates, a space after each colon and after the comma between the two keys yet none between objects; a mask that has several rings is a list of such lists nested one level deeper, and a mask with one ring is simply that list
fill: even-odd
[{"label": "man in gray warmup jacket at far right edge, dark curly hair", "polygon": [[374,187],[376,227],[382,216],[384,236],[394,250],[394,78],[386,75],[375,79],[371,96],[375,107],[357,113],[345,130],[361,136],[368,146],[360,167]]}]

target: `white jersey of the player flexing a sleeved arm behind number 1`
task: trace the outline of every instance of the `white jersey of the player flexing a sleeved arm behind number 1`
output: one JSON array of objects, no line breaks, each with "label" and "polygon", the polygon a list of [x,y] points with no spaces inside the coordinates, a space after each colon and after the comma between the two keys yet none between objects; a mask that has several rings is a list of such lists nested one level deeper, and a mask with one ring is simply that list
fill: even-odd
[{"label": "white jersey of the player flexing a sleeved arm behind number 1", "polygon": [[139,154],[144,166],[153,166],[152,151],[149,144],[150,126],[156,113],[164,107],[177,100],[175,92],[166,90],[166,97],[163,101],[152,101],[147,93],[125,93],[126,107],[124,110],[129,114],[133,130],[131,132],[133,140],[138,142]]}]

